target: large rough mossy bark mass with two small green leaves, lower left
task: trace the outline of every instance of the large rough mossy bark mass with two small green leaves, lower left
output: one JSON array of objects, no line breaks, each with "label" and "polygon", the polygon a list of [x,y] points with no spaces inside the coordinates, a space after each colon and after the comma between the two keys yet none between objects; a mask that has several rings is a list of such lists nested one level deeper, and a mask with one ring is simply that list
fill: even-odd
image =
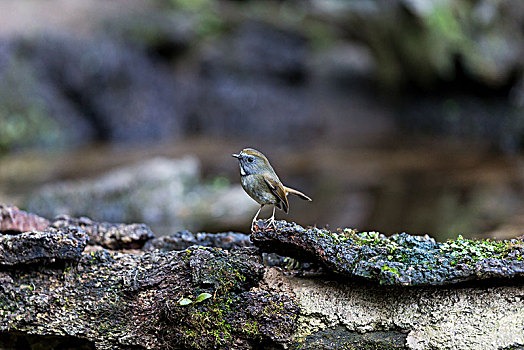
[{"label": "large rough mossy bark mass with two small green leaves, lower left", "polygon": [[[60,232],[45,234],[61,247],[46,259],[72,250],[61,245]],[[250,291],[264,272],[254,252],[102,249],[67,267],[19,264],[0,273],[0,329],[84,338],[98,349],[278,344],[295,329],[297,306],[282,294]],[[212,297],[197,303],[202,293]],[[183,298],[193,302],[180,305]]]}]

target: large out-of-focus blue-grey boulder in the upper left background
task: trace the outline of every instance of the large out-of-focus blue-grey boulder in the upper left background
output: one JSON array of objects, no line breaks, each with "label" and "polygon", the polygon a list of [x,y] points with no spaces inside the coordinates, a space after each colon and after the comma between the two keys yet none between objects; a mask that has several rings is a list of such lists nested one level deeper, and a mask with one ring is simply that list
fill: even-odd
[{"label": "large out-of-focus blue-grey boulder in the upper left background", "polygon": [[17,46],[38,79],[65,97],[98,139],[158,141],[180,134],[184,92],[167,67],[145,53],[106,37],[43,36]]}]

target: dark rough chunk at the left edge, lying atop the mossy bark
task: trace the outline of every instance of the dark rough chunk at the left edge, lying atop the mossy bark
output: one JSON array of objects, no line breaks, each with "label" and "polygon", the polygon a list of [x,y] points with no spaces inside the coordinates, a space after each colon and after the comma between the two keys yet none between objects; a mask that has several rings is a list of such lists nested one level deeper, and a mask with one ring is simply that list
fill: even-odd
[{"label": "dark rough chunk at the left edge, lying atop the mossy bark", "polygon": [[78,261],[87,235],[77,227],[0,235],[0,265]]}]

